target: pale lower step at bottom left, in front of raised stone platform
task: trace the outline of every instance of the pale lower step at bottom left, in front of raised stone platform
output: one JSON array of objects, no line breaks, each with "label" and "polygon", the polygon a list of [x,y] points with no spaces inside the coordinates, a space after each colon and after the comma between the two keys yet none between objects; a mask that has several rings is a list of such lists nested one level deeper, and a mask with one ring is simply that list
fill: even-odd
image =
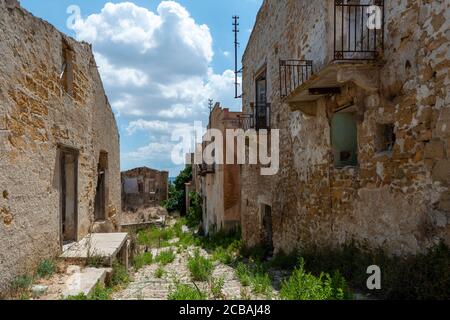
[{"label": "pale lower step at bottom left, in front of raised stone platform", "polygon": [[108,268],[86,268],[83,270],[73,269],[73,273],[67,278],[63,297],[84,294],[89,296],[94,292],[97,284],[105,285],[105,279],[111,272]]}]

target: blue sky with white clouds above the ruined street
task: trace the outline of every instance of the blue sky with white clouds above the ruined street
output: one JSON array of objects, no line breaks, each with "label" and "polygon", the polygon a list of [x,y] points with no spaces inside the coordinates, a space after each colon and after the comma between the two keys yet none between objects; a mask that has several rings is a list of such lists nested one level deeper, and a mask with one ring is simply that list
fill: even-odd
[{"label": "blue sky with white clouds above the ruined street", "polygon": [[[35,16],[93,44],[121,135],[122,170],[169,170],[174,132],[208,117],[209,98],[240,110],[233,99],[231,17],[240,16],[242,54],[262,0],[21,0]],[[81,19],[67,26],[67,8]]]}]

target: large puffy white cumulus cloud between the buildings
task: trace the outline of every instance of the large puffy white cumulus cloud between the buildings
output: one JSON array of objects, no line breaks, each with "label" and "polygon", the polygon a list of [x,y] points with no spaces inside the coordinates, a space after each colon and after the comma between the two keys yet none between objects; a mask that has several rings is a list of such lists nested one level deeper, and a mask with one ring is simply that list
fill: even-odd
[{"label": "large puffy white cumulus cloud between the buildings", "polygon": [[124,139],[151,135],[125,155],[133,163],[170,153],[170,131],[206,121],[208,99],[238,106],[234,73],[212,70],[209,27],[175,1],[162,1],[154,12],[132,2],[109,2],[78,20],[74,31],[78,40],[93,45],[109,101],[125,128]]}]

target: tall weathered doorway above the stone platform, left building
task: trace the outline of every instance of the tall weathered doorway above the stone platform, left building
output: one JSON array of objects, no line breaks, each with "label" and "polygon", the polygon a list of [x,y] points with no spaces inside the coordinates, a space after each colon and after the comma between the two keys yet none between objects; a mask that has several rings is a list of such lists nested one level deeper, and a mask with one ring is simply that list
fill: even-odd
[{"label": "tall weathered doorway above the stone platform, left building", "polygon": [[78,151],[59,149],[61,242],[67,244],[78,238]]}]

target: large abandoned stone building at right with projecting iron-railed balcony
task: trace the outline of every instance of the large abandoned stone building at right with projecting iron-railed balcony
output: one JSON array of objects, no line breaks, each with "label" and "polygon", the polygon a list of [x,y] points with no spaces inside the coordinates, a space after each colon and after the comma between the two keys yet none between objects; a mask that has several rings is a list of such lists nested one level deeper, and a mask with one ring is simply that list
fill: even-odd
[{"label": "large abandoned stone building at right with projecting iron-railed balcony", "polygon": [[449,67],[449,1],[265,0],[242,127],[280,130],[280,170],[242,167],[245,242],[450,243]]}]

